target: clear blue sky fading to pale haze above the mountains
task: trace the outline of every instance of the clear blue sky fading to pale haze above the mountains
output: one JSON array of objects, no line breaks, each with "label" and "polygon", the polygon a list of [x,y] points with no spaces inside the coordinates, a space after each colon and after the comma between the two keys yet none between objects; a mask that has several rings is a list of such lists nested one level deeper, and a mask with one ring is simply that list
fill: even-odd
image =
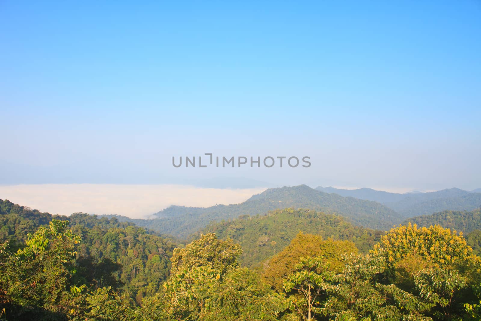
[{"label": "clear blue sky fading to pale haze above the mountains", "polygon": [[107,2],[0,1],[0,184],[481,187],[478,0]]}]

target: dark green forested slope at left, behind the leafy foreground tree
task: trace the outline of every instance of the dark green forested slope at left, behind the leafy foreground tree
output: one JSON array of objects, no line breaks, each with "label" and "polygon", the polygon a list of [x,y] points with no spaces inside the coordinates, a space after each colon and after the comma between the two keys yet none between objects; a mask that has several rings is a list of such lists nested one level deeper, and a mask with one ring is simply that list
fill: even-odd
[{"label": "dark green forested slope at left, behind the leafy foreground tree", "polygon": [[28,233],[54,219],[69,221],[68,227],[79,236],[75,278],[90,289],[111,286],[140,302],[156,293],[169,275],[176,242],[116,218],[84,213],[52,216],[0,200],[0,243],[9,241],[13,252],[23,249]]}]

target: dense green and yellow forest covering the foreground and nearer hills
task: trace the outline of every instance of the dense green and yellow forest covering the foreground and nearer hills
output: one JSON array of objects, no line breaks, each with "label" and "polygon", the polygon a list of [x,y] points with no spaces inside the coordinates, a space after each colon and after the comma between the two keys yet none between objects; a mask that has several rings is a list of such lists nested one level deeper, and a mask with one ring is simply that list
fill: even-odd
[{"label": "dense green and yellow forest covering the foreground and nearer hills", "polygon": [[0,208],[3,320],[481,318],[481,258],[467,243],[479,231],[386,233],[285,208],[211,224],[182,245],[115,218]]}]

